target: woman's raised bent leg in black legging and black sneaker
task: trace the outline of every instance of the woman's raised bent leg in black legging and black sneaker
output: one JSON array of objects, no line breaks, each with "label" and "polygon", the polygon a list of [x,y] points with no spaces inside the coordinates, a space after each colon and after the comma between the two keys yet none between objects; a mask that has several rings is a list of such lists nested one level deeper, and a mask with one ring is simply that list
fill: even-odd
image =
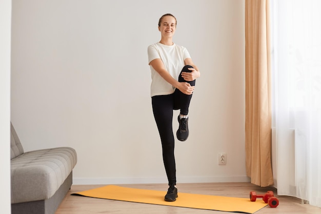
[{"label": "woman's raised bent leg in black legging and black sneaker", "polygon": [[[192,72],[188,70],[188,68],[193,68],[190,65],[186,65],[183,67],[182,71],[179,74],[178,77],[178,82],[187,82],[191,86],[195,86],[195,80],[193,81],[185,81],[182,77],[182,72]],[[174,92],[174,109],[180,109],[179,115],[178,115],[178,123],[179,123],[179,128],[176,131],[176,137],[179,141],[186,141],[189,135],[189,130],[188,130],[188,109],[189,105],[192,99],[192,95],[187,95],[178,89],[175,89]]]}]

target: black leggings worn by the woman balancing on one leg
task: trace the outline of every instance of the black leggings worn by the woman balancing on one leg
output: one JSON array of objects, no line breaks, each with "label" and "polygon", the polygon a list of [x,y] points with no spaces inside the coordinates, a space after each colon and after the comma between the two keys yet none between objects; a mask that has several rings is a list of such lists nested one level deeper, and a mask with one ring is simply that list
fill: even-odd
[{"label": "black leggings worn by the woman balancing on one leg", "polygon": [[[184,66],[182,72],[191,72],[188,68],[193,68],[190,65]],[[179,74],[178,82],[188,82],[191,86],[195,86],[195,80],[185,81],[182,77],[182,72]],[[152,107],[160,141],[162,142],[163,161],[167,174],[168,185],[176,185],[176,167],[174,157],[174,134],[173,134],[173,109],[180,109],[180,114],[187,115],[189,104],[192,98],[175,89],[174,93],[169,95],[152,96]]]}]

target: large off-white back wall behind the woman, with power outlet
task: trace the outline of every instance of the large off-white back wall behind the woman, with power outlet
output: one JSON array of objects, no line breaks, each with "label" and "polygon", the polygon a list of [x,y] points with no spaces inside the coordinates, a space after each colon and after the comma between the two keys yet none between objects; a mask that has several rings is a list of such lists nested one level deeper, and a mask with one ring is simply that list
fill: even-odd
[{"label": "large off-white back wall behind the woman, with power outlet", "polygon": [[248,181],[244,4],[13,1],[11,120],[25,150],[75,148],[74,184],[167,183],[147,46],[160,39],[159,17],[172,13],[174,42],[202,72],[190,137],[176,142],[178,183]]}]

